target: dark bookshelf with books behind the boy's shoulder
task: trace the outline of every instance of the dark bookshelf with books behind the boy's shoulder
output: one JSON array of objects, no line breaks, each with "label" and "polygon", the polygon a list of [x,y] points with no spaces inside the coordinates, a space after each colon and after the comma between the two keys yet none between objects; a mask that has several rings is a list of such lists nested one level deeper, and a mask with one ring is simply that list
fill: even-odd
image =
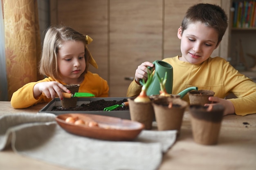
[{"label": "dark bookshelf with books behind the boy's shoulder", "polygon": [[256,0],[230,0],[229,61],[256,77]]}]

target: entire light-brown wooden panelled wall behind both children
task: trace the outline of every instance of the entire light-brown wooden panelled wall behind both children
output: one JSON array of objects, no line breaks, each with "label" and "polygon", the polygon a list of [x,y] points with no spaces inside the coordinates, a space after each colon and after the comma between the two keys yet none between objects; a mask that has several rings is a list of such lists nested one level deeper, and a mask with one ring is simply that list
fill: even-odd
[{"label": "entire light-brown wooden panelled wall behind both children", "polygon": [[[188,7],[198,2],[222,5],[221,0],[50,2],[51,24],[71,26],[93,39],[88,48],[99,69],[91,66],[89,70],[108,81],[110,97],[126,96],[135,70],[142,62],[181,55],[177,29]],[[218,48],[212,56],[220,53]]]}]

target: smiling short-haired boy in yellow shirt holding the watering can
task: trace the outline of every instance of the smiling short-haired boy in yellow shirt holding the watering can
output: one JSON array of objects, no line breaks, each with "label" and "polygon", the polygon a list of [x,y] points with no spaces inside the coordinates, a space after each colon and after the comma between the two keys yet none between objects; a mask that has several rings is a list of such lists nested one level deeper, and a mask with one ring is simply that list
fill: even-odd
[{"label": "smiling short-haired boy in yellow shirt holding the watering can", "polygon": [[[227,15],[218,5],[200,3],[188,9],[177,32],[182,56],[163,60],[173,66],[172,93],[178,94],[185,88],[197,86],[198,90],[215,92],[209,101],[225,106],[224,115],[256,113],[256,83],[240,74],[225,59],[210,57],[220,44],[227,25]],[[138,66],[127,97],[139,94],[139,79],[147,79],[148,66],[154,65],[144,62]],[[224,99],[230,93],[238,98]],[[188,95],[183,99],[189,102]]]}]

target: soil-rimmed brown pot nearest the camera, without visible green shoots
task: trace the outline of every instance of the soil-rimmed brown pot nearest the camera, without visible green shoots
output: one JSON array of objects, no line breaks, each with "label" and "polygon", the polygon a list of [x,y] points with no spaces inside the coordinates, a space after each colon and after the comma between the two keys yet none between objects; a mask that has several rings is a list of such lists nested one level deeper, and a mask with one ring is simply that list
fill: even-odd
[{"label": "soil-rimmed brown pot nearest the camera, without visible green shoots", "polygon": [[193,139],[196,143],[217,144],[224,110],[225,108],[221,104],[191,105],[189,107]]}]

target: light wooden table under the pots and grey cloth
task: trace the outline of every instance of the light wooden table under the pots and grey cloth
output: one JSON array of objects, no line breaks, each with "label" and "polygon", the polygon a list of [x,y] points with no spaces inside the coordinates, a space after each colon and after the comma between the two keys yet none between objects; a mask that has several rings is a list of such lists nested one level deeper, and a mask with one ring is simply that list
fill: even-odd
[{"label": "light wooden table under the pots and grey cloth", "polygon": [[[13,109],[10,102],[0,102],[0,115],[37,113],[46,104]],[[1,170],[67,170],[43,161],[0,151]],[[189,113],[184,114],[180,136],[163,156],[159,170],[256,170],[256,114],[227,115],[223,118],[219,142],[204,146],[193,141]]]}]

